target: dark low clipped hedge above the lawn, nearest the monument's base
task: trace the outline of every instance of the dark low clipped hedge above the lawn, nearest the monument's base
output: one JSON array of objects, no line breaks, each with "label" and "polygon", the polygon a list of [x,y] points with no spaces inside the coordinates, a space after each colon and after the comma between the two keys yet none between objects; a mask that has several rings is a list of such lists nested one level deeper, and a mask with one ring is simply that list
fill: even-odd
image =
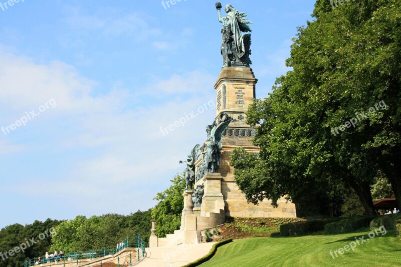
[{"label": "dark low clipped hedge above the lawn, nearest the monument's base", "polygon": [[324,225],[330,222],[339,221],[342,218],[318,219],[292,222],[280,225],[280,234],[282,236],[288,235],[302,235],[312,232],[324,230]]}]

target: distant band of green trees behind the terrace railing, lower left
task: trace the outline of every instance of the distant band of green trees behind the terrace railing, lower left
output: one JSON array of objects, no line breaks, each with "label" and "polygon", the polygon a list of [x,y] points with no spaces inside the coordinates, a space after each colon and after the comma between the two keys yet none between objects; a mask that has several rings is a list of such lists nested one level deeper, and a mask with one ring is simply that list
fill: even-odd
[{"label": "distant band of green trees behind the terrace railing, lower left", "polygon": [[[26,258],[43,256],[47,251],[63,250],[65,254],[74,251],[115,248],[117,242],[126,237],[135,237],[136,233],[146,242],[150,236],[150,209],[138,210],[129,215],[106,214],[92,216],[76,216],[73,220],[36,220],[25,226],[12,224],[0,230],[0,267],[23,267]],[[54,228],[54,229],[53,229]],[[50,230],[50,231],[49,231]],[[41,240],[41,237],[42,238]],[[26,243],[34,238],[36,242],[25,251],[13,256],[5,252]],[[31,241],[29,241],[31,243]],[[134,240],[132,239],[132,242]]]}]

